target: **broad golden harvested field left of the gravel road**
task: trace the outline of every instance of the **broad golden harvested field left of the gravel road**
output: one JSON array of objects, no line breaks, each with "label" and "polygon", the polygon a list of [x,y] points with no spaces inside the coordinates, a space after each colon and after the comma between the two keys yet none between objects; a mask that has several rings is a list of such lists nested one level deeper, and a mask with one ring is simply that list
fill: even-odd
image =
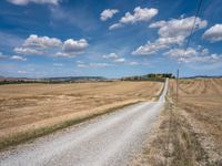
[{"label": "broad golden harvested field left of the gravel road", "polygon": [[[68,125],[72,124],[70,121],[80,121],[139,101],[154,100],[161,87],[160,82],[1,85],[1,146],[60,128],[67,122]],[[56,127],[46,128],[51,126]]]}]

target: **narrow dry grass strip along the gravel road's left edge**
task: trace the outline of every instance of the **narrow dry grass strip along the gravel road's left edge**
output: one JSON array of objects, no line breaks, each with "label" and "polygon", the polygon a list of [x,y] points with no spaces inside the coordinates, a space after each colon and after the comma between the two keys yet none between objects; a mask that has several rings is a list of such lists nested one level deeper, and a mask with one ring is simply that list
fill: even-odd
[{"label": "narrow dry grass strip along the gravel road's left edge", "polygon": [[28,131],[28,132],[19,133],[17,135],[9,136],[9,137],[0,141],[0,151],[3,151],[3,149],[6,149],[10,146],[14,146],[14,145],[18,145],[18,144],[21,144],[21,143],[26,143],[28,141],[32,141],[32,139],[40,137],[40,136],[48,135],[50,133],[53,133],[56,131],[69,127],[71,125],[75,125],[75,124],[85,122],[88,120],[91,120],[91,118],[94,118],[94,117],[118,111],[120,108],[123,108],[123,107],[129,106],[129,105],[137,104],[139,102],[141,102],[141,101],[127,103],[127,104],[123,104],[123,105],[118,105],[118,106],[108,108],[102,113],[101,112],[100,113],[92,113],[92,114],[90,114],[85,117],[82,117],[82,118],[72,118],[72,120],[63,121],[63,122],[58,123],[58,124],[52,125],[52,126],[36,128],[36,129],[32,129],[32,131]]}]

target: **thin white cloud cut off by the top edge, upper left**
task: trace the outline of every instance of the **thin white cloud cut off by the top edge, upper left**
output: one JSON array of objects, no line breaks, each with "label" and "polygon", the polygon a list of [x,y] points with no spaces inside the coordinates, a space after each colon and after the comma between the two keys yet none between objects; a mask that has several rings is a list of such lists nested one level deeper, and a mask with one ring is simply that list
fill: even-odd
[{"label": "thin white cloud cut off by the top edge, upper left", "polygon": [[7,0],[8,2],[16,4],[16,6],[27,6],[28,3],[49,3],[49,4],[59,4],[60,0]]}]

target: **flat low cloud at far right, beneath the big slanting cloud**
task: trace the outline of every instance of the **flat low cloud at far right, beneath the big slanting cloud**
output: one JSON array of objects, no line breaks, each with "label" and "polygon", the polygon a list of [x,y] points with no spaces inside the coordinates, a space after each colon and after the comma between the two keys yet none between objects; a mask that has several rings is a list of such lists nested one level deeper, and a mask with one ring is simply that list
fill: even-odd
[{"label": "flat low cloud at far right, beneath the big slanting cloud", "polygon": [[176,60],[179,63],[216,63],[222,61],[221,54],[210,54],[208,49],[171,49],[164,55]]}]

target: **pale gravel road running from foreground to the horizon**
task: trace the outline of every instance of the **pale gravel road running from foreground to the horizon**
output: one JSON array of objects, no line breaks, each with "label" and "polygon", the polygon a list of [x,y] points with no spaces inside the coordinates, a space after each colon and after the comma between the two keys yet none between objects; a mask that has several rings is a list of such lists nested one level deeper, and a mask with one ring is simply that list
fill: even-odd
[{"label": "pale gravel road running from foreground to the horizon", "polygon": [[164,106],[168,80],[158,102],[127,106],[89,122],[0,153],[1,166],[127,165],[148,138]]}]

